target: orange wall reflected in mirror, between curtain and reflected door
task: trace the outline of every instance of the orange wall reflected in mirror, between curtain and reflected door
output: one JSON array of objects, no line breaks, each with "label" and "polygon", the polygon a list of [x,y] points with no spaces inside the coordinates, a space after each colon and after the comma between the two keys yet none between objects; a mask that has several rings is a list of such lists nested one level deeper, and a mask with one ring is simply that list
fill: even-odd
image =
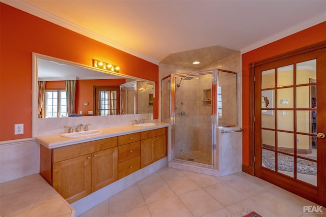
[{"label": "orange wall reflected in mirror, between curtain and reflected door", "polygon": [[[76,107],[75,113],[83,111],[83,115],[89,115],[93,111],[93,86],[119,86],[126,83],[126,79],[102,79],[102,80],[78,80],[76,85]],[[84,103],[88,103],[87,106]]]}]

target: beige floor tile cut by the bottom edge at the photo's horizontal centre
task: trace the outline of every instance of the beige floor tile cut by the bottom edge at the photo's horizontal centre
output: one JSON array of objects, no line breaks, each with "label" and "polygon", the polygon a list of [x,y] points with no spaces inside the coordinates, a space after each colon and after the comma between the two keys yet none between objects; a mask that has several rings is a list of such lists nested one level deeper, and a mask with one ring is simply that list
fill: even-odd
[{"label": "beige floor tile cut by the bottom edge at the photo's horizontal centre", "polygon": [[177,196],[147,204],[152,217],[193,217]]}]

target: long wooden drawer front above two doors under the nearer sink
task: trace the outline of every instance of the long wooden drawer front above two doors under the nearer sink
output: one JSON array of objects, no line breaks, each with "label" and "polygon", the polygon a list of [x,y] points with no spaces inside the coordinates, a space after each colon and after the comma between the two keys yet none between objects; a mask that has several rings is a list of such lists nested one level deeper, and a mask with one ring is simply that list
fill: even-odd
[{"label": "long wooden drawer front above two doors under the nearer sink", "polygon": [[117,137],[111,137],[107,139],[79,143],[76,145],[54,148],[52,152],[53,163],[104,150],[107,148],[116,147],[117,143]]}]

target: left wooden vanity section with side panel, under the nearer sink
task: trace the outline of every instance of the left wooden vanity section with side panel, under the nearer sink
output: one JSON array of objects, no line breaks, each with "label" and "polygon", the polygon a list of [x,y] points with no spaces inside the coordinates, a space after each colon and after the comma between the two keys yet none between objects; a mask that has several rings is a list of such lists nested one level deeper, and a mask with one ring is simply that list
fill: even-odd
[{"label": "left wooden vanity section with side panel, under the nearer sink", "polygon": [[68,203],[118,180],[117,137],[46,149],[40,146],[40,174]]}]

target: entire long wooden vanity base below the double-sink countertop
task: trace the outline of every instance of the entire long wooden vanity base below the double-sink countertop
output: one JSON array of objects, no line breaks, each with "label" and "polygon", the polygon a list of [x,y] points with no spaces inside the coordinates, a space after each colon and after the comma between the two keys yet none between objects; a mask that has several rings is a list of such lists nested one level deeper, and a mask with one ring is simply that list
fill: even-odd
[{"label": "entire long wooden vanity base below the double-sink countertop", "polygon": [[167,156],[167,128],[48,149],[40,174],[73,203]]}]

